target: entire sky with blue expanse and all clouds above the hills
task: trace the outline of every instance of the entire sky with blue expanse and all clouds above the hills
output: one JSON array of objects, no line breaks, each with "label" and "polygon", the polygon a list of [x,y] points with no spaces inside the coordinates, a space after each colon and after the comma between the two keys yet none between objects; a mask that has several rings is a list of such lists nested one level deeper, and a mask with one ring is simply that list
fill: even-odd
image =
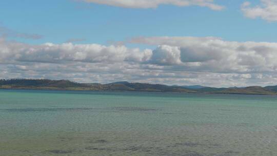
[{"label": "entire sky with blue expanse and all clouds above the hills", "polygon": [[0,79],[277,85],[277,0],[0,1]]}]

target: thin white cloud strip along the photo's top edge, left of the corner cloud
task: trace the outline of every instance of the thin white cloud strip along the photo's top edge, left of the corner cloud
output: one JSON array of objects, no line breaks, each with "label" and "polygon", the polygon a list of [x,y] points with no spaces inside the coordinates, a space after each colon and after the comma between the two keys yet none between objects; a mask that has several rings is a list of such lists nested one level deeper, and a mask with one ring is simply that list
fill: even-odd
[{"label": "thin white cloud strip along the photo's top edge, left of the corner cloud", "polygon": [[105,4],[124,8],[156,8],[159,5],[175,6],[201,6],[208,7],[212,10],[222,10],[224,7],[217,5],[213,0],[81,0],[88,3]]}]

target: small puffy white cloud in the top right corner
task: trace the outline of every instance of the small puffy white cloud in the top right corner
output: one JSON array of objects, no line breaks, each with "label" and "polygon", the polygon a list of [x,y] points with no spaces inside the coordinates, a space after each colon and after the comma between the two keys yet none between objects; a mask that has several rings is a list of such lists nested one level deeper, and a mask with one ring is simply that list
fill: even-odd
[{"label": "small puffy white cloud in the top right corner", "polygon": [[250,2],[242,4],[242,11],[246,17],[260,17],[267,21],[277,21],[277,1],[261,0],[261,5],[251,6]]}]

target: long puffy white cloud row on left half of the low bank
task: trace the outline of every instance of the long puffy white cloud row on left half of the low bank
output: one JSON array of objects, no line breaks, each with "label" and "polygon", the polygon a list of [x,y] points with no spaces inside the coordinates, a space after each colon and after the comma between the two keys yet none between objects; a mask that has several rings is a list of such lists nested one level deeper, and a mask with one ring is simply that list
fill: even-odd
[{"label": "long puffy white cloud row on left half of the low bank", "polygon": [[1,56],[3,62],[8,60],[18,62],[40,63],[115,63],[126,60],[145,61],[151,55],[149,50],[128,49],[125,46],[103,46],[98,44],[52,44],[27,45],[10,43],[2,39]]}]

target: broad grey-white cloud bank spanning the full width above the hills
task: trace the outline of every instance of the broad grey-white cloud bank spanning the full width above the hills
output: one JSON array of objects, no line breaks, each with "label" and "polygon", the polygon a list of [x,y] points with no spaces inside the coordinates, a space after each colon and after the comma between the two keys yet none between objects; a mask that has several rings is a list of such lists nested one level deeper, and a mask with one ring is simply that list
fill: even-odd
[{"label": "broad grey-white cloud bank spanning the full width above the hills", "polygon": [[28,45],[0,39],[0,78],[132,81],[210,86],[277,84],[277,43],[217,37],[138,37],[151,49],[98,44]]}]

